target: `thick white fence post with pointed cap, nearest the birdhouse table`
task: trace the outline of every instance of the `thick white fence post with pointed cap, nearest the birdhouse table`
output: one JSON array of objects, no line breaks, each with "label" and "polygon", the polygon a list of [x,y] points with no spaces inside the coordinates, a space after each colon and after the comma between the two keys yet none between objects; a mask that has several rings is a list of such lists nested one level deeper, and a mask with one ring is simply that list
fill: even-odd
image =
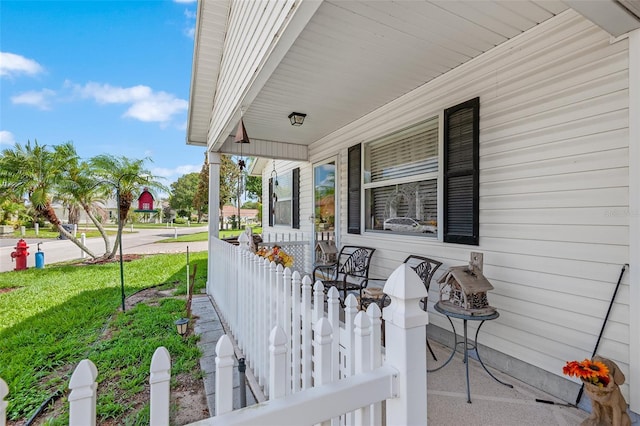
[{"label": "thick white fence post with pointed cap, nearest the birdhouse table", "polygon": [[387,400],[387,424],[426,425],[427,348],[424,342],[429,317],[420,309],[419,301],[427,297],[427,290],[415,271],[402,264],[389,276],[383,291],[391,298],[391,304],[382,311],[386,362],[398,370],[398,395]]}]

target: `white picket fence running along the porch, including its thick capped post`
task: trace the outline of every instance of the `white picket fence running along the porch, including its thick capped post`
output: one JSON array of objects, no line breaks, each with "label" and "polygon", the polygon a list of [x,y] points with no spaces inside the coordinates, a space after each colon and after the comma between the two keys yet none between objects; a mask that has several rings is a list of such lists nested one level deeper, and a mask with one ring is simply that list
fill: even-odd
[{"label": "white picket fence running along the porch, including its thick capped post", "polygon": [[335,288],[325,296],[322,283],[312,289],[308,276],[242,244],[213,241],[210,256],[208,292],[269,401],[198,424],[426,424],[426,291],[411,268],[401,265],[385,286],[383,355],[375,304],[358,312],[350,295],[341,310]]}]

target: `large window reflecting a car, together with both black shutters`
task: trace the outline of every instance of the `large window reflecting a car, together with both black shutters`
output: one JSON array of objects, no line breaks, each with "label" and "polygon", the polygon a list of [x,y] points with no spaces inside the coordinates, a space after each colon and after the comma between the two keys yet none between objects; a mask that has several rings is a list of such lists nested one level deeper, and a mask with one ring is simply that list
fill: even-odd
[{"label": "large window reflecting a car, together with both black shutters", "polygon": [[438,117],[349,148],[349,233],[360,233],[362,214],[367,231],[435,237],[441,227],[444,242],[479,244],[480,99],[444,110],[443,118],[442,170]]}]

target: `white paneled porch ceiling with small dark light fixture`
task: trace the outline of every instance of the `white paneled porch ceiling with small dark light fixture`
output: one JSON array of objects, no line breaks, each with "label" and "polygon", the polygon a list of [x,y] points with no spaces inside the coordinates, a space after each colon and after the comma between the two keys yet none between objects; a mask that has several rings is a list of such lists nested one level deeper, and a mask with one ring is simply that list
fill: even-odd
[{"label": "white paneled porch ceiling with small dark light fixture", "polygon": [[[263,148],[254,155],[264,156],[270,141],[278,148],[266,157],[282,158],[285,144],[308,146],[567,8],[555,0],[325,0],[269,78],[251,88],[257,95],[244,104],[244,123]],[[203,37],[196,53],[207,42]],[[215,49],[211,54],[218,55]],[[197,97],[197,61],[209,66],[215,59],[219,63],[219,57],[194,59],[189,143],[207,140],[211,109],[204,114],[202,105],[212,105],[215,93],[214,85],[208,96]],[[207,71],[210,79],[214,71]],[[293,111],[307,114],[304,125],[289,124]],[[223,144],[234,131],[208,135],[215,141],[210,149],[234,153],[239,144]],[[250,145],[244,155],[252,155]]]}]

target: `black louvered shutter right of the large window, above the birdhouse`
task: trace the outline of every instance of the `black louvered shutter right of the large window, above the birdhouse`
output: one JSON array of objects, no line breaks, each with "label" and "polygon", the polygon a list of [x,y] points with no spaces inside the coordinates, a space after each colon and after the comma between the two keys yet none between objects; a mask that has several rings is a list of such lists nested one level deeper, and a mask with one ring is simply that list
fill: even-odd
[{"label": "black louvered shutter right of the large window, above the birdhouse", "polygon": [[444,241],[479,244],[480,98],[444,111]]}]

